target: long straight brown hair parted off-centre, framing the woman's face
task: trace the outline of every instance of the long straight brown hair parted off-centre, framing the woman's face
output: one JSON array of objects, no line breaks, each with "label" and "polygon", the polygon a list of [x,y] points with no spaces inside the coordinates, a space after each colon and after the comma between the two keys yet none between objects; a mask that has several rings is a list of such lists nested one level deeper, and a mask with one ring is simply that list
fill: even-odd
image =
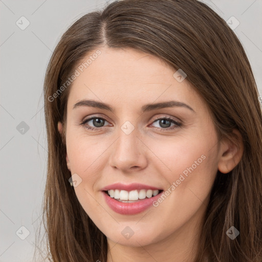
[{"label": "long straight brown hair parted off-centre, framing the woman's face", "polygon": [[[54,262],[103,261],[106,236],[85,213],[70,186],[65,123],[77,65],[99,47],[134,48],[160,57],[187,80],[209,107],[217,135],[237,128],[244,154],[228,174],[217,171],[194,262],[262,261],[262,116],[245,51],[225,21],[197,0],[124,0],[78,19],[61,37],[49,62],[44,94],[48,168],[43,201],[47,256]],[[60,89],[61,91],[61,89]],[[57,94],[54,96],[54,94]],[[226,231],[240,234],[231,240]],[[42,250],[43,251],[43,250]]]}]

